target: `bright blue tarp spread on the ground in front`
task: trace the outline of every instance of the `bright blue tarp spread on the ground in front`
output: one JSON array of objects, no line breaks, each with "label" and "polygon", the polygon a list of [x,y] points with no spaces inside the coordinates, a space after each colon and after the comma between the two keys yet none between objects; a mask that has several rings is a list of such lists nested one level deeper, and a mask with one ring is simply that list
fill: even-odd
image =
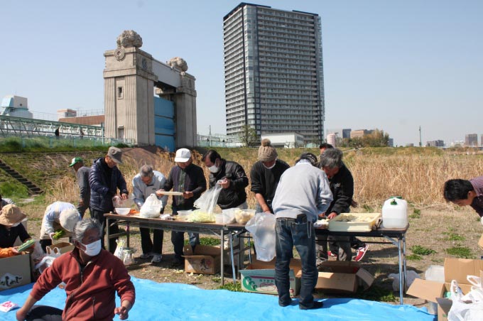
[{"label": "bright blue tarp spread on the ground in front", "polygon": [[[136,303],[129,320],[408,320],[435,321],[425,308],[390,305],[351,298],[325,299],[318,310],[300,310],[298,300],[286,308],[278,306],[276,295],[202,290],[195,285],[156,283],[132,277]],[[25,302],[33,284],[0,292],[0,303]],[[119,298],[116,299],[119,306]],[[62,309],[65,291],[55,288],[38,304]],[[0,312],[0,320],[16,320],[16,310]],[[119,320],[116,316],[114,320]]]}]

